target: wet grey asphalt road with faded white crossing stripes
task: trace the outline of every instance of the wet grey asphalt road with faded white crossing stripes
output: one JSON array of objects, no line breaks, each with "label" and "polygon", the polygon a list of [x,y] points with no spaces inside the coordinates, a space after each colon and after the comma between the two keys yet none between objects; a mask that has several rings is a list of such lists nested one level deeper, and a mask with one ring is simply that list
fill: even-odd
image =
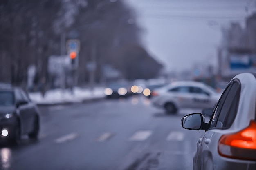
[{"label": "wet grey asphalt road with faded white crossing stripes", "polygon": [[41,107],[38,141],[2,144],[1,170],[192,170],[203,131],[165,115],[148,99],[131,97]]}]

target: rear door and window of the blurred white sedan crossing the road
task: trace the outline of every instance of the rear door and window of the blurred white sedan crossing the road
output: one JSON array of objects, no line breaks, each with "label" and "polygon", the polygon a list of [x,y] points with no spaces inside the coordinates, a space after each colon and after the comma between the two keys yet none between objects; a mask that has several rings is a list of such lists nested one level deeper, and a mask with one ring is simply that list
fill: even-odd
[{"label": "rear door and window of the blurred white sedan crossing the road", "polygon": [[180,107],[189,108],[192,103],[192,95],[189,92],[189,86],[178,86],[168,90],[168,99],[175,100]]}]

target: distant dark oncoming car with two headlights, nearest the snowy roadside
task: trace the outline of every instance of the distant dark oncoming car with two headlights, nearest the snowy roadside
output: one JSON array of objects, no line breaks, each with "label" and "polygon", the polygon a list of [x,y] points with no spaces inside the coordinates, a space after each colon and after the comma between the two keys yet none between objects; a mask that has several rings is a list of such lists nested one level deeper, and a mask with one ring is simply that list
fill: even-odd
[{"label": "distant dark oncoming car with two headlights, nearest the snowy roadside", "polygon": [[104,94],[108,99],[128,97],[132,94],[131,85],[127,82],[113,82],[106,86]]}]

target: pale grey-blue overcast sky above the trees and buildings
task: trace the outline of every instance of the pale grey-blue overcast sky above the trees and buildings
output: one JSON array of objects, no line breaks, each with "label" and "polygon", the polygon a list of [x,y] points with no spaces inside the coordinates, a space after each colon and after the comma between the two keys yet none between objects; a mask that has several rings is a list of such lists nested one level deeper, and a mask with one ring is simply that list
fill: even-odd
[{"label": "pale grey-blue overcast sky above the trees and buildings", "polygon": [[217,64],[221,26],[244,24],[256,0],[124,0],[134,7],[149,53],[168,71]]}]

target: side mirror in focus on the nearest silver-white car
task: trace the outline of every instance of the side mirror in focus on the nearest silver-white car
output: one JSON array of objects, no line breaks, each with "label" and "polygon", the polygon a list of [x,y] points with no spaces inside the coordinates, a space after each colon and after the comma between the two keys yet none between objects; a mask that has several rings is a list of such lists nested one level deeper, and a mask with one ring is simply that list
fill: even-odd
[{"label": "side mirror in focus on the nearest silver-white car", "polygon": [[205,130],[205,118],[201,113],[192,113],[182,117],[181,125],[184,129],[189,130]]}]

